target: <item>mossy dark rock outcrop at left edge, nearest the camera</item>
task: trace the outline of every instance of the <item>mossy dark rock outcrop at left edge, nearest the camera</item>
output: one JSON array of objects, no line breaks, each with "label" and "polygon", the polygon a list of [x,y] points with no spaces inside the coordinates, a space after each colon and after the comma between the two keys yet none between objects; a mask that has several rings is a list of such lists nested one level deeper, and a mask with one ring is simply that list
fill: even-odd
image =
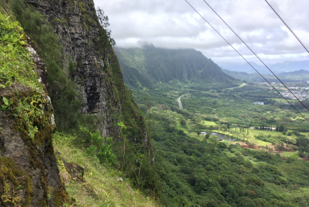
[{"label": "mossy dark rock outcrop at left edge, nearest the camera", "polygon": [[[15,48],[18,48],[19,54],[29,51],[26,61],[32,60],[34,65],[19,73],[24,75],[24,79],[18,76],[15,83],[0,87],[0,206],[62,206],[68,198],[53,155],[51,134],[56,126],[45,87],[47,73],[30,41],[25,36],[23,38],[26,42],[23,48],[18,43],[15,43]],[[6,44],[0,44],[1,52],[13,54],[12,50],[6,50]],[[4,57],[3,54],[1,57]],[[6,58],[0,60],[1,66],[9,61]],[[31,71],[35,79],[26,77]],[[23,84],[18,83],[19,80]],[[36,87],[27,86],[30,81]],[[4,84],[5,79],[0,83]],[[5,98],[9,103],[5,103]],[[3,105],[8,107],[3,108]]]}]

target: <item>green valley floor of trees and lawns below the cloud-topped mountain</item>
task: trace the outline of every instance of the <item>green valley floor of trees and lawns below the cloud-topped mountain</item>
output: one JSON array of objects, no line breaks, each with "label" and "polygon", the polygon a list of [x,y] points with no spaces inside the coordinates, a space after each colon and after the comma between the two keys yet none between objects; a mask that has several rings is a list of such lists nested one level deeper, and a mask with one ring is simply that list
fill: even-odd
[{"label": "green valley floor of trees and lawns below the cloud-topped mountain", "polygon": [[[157,90],[131,88],[139,106],[143,96],[152,105],[155,160],[166,206],[309,203],[309,162],[301,160],[308,154],[308,124],[291,106],[265,101],[277,94],[252,82],[233,88],[199,80],[177,83],[156,83]],[[180,95],[182,110],[176,101]],[[197,135],[198,130],[208,134]],[[218,141],[210,132],[236,138],[236,144]]]}]

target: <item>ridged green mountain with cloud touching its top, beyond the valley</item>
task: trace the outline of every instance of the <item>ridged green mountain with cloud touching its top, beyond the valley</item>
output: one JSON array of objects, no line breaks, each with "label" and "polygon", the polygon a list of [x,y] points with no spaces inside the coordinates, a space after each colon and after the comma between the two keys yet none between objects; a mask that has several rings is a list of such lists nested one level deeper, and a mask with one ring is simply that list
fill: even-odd
[{"label": "ridged green mountain with cloud touching its top, beyond the valley", "polygon": [[114,50],[126,84],[144,85],[146,80],[150,84],[172,79],[182,81],[214,77],[234,80],[210,58],[194,49],[165,49],[146,44],[140,48],[115,47]]}]

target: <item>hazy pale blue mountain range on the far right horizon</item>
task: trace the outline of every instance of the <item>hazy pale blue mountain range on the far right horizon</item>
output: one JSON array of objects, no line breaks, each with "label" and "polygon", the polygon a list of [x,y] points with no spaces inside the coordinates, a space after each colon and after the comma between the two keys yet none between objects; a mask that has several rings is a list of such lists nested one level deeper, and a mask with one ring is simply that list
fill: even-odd
[{"label": "hazy pale blue mountain range on the far right horizon", "polygon": [[[252,66],[261,74],[271,74],[271,72],[264,66],[256,64],[255,62],[250,62]],[[266,64],[269,69],[274,72],[276,75],[282,72],[290,72],[295,70],[309,70],[309,60],[303,61],[284,61],[281,63],[275,64]],[[230,65],[221,65],[223,69],[227,69],[230,71],[237,71],[237,72],[246,72],[246,73],[254,73],[255,70],[248,64],[230,64]]]}]

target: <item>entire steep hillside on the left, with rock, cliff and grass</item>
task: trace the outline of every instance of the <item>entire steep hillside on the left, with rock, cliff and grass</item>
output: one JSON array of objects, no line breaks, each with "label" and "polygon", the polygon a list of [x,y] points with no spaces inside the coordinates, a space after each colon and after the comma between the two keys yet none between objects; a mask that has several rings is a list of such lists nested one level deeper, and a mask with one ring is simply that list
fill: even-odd
[{"label": "entire steep hillside on the left, with rock, cliff and grass", "polygon": [[[151,143],[97,12],[92,0],[0,1],[0,206],[155,205],[140,192],[157,193]],[[94,171],[61,154],[67,137],[65,153],[92,157]],[[102,170],[127,179],[110,183],[116,196],[85,183]]]}]

